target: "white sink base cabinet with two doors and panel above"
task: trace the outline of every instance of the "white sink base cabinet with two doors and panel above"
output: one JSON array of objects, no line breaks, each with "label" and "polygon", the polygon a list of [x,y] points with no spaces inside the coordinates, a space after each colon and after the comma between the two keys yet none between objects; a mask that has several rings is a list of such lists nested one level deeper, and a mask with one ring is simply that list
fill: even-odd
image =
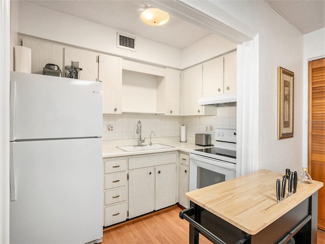
[{"label": "white sink base cabinet with two doors and panel above", "polygon": [[129,159],[129,168],[141,162],[149,167],[128,171],[129,218],[176,203],[176,153]]}]

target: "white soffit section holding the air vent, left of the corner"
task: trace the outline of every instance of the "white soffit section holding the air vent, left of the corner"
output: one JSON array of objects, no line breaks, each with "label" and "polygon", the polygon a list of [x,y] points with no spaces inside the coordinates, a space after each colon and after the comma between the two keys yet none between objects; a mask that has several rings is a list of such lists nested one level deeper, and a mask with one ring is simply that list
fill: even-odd
[{"label": "white soffit section holding the air vent, left of the corner", "polygon": [[[49,23],[51,24],[49,27]],[[77,26],[77,28],[76,28]],[[76,31],[71,32],[71,29]],[[181,50],[137,37],[137,51],[116,47],[117,29],[19,1],[18,32],[149,63],[181,67]],[[127,33],[126,33],[127,34]]]}]

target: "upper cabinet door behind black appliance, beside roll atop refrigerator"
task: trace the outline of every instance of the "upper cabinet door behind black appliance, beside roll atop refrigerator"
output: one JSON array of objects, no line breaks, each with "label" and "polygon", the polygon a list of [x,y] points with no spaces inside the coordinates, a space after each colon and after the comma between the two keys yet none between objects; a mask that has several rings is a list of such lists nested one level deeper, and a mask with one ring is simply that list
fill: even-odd
[{"label": "upper cabinet door behind black appliance, beside roll atop refrigerator", "polygon": [[64,67],[62,64],[63,48],[57,45],[33,41],[22,40],[23,46],[31,49],[31,73],[43,74],[46,64],[58,65],[61,76],[64,77]]}]

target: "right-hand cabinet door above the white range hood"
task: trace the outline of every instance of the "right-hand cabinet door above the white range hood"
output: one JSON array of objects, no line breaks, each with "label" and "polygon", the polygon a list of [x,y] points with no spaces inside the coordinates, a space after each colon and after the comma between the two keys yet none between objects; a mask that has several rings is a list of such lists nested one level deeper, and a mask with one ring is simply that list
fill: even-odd
[{"label": "right-hand cabinet door above the white range hood", "polygon": [[235,93],[237,88],[237,52],[224,55],[224,93]]}]

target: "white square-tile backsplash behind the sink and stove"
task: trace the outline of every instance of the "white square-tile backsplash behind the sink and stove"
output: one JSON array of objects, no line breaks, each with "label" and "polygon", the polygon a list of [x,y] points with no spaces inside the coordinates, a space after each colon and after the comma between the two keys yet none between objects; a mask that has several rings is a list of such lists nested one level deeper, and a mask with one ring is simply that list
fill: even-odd
[{"label": "white square-tile backsplash behind the sink and stove", "polygon": [[[155,114],[103,114],[103,140],[139,138],[136,134],[141,120],[142,137],[180,137],[180,126],[186,126],[186,136],[196,133],[213,133],[216,128],[236,129],[236,106],[218,107],[215,116],[165,116]],[[212,131],[210,130],[210,127]]]}]

